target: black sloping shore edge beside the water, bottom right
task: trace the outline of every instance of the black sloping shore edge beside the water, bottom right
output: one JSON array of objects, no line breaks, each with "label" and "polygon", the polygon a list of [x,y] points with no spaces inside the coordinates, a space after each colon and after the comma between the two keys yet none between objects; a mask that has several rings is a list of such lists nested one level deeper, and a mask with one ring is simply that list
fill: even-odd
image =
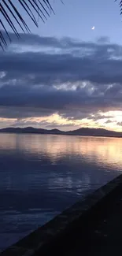
[{"label": "black sloping shore edge beside the water, bottom right", "polygon": [[[115,179],[109,181],[109,183],[79,200],[51,221],[37,228],[28,236],[6,248],[6,250],[3,250],[0,255],[35,256],[39,254],[55,255],[59,253],[70,255],[72,250],[74,252],[76,251],[74,254],[76,255],[77,250],[83,252],[83,244],[87,244],[89,247],[91,246],[91,238],[92,242],[94,242],[92,249],[94,250],[96,247],[97,239],[99,241],[97,245],[98,250],[101,251],[100,245],[103,243],[103,239],[108,239],[109,236],[105,235],[106,231],[98,232],[98,230],[100,228],[103,229],[105,223],[111,220],[112,213],[115,226],[118,224],[116,222],[119,214],[118,207],[121,205],[121,183],[122,175],[117,176]],[[116,214],[114,216],[115,209]],[[120,220],[121,214],[119,215]],[[109,227],[107,230],[111,234]],[[114,229],[113,225],[113,236],[119,236],[119,232],[116,233]],[[83,242],[81,243],[81,241]],[[110,244],[112,242],[113,240],[110,240]],[[86,250],[87,247],[85,247]]]}]

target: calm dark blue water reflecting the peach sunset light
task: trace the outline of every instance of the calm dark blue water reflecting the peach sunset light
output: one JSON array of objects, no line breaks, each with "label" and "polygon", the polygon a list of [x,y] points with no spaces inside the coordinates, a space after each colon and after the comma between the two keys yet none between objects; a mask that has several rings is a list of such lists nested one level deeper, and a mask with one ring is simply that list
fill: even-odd
[{"label": "calm dark blue water reflecting the peach sunset light", "polygon": [[0,250],[121,170],[122,139],[0,134]]}]

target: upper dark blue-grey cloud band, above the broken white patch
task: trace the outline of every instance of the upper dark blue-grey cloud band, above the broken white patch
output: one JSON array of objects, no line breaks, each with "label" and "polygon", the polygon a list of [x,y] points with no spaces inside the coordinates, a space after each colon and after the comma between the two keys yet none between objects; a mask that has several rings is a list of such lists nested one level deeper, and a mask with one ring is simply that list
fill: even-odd
[{"label": "upper dark blue-grey cloud band, above the broken white patch", "polygon": [[[28,83],[50,84],[89,80],[92,83],[122,82],[122,47],[116,44],[76,42],[72,39],[41,39],[37,35],[24,35],[27,42],[30,36],[34,42],[43,40],[41,46],[61,49],[57,54],[46,52],[16,53],[1,51],[0,70],[6,72],[3,80],[23,79]],[[17,41],[20,43],[20,41]],[[63,42],[63,43],[62,43]],[[68,49],[68,53],[65,52]],[[76,50],[77,49],[77,54]]]}]

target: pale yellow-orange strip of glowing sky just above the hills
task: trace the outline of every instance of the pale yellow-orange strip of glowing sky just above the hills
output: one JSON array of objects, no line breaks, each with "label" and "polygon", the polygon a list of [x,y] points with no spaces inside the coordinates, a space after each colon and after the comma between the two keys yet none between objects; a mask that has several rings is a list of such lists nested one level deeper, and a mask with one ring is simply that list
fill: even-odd
[{"label": "pale yellow-orange strip of glowing sky just above the hills", "polygon": [[46,128],[47,125],[48,128],[48,125],[50,125],[50,127],[52,125],[52,127],[60,128],[63,131],[86,127],[105,128],[111,131],[122,132],[122,111],[109,111],[105,113],[98,112],[97,114],[98,120],[94,120],[95,115],[91,116],[91,118],[89,117],[81,120],[73,120],[61,117],[58,113],[54,113],[48,117],[27,117],[18,121],[17,118],[0,118],[0,126],[1,128],[15,126],[15,124],[16,126],[19,126],[20,121],[20,124],[23,124],[22,127],[34,126],[37,128]]}]

